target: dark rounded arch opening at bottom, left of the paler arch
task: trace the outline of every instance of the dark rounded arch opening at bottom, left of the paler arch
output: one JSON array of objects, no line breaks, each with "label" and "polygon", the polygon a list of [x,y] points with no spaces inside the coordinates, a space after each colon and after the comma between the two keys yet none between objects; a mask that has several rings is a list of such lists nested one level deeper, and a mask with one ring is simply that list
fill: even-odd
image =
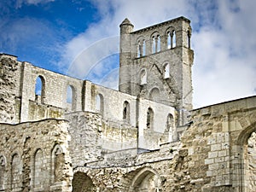
[{"label": "dark rounded arch opening at bottom, left of the paler arch", "polygon": [[96,186],[92,182],[92,179],[85,174],[84,172],[75,172],[73,175],[73,192],[93,192],[96,189]]}]

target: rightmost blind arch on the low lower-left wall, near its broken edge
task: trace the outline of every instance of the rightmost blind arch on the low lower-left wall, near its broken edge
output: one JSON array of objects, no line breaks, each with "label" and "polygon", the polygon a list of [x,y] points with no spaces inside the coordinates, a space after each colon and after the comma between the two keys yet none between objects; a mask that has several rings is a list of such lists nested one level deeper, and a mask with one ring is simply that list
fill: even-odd
[{"label": "rightmost blind arch on the low lower-left wall, near its broken edge", "polygon": [[64,153],[61,146],[55,145],[51,154],[51,177],[52,183],[60,182],[63,175]]}]

